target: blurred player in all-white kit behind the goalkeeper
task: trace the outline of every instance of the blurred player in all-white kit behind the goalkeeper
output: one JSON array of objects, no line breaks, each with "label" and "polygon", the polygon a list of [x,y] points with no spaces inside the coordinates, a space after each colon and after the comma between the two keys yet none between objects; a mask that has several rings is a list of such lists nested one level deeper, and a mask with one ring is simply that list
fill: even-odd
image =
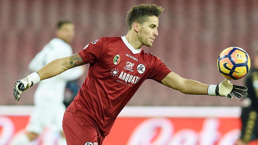
[{"label": "blurred player in all-white kit behind the goalkeeper", "polygon": [[[70,46],[74,39],[74,25],[71,21],[59,21],[56,37],[43,47],[29,64],[31,71],[37,71],[49,62],[72,55]],[[83,68],[70,69],[58,76],[41,81],[34,94],[35,107],[30,116],[25,132],[18,134],[11,145],[28,145],[36,139],[45,127],[60,132],[58,145],[65,145],[65,135],[62,129],[62,120],[65,112],[64,93],[67,81],[78,79],[83,74]]]}]

